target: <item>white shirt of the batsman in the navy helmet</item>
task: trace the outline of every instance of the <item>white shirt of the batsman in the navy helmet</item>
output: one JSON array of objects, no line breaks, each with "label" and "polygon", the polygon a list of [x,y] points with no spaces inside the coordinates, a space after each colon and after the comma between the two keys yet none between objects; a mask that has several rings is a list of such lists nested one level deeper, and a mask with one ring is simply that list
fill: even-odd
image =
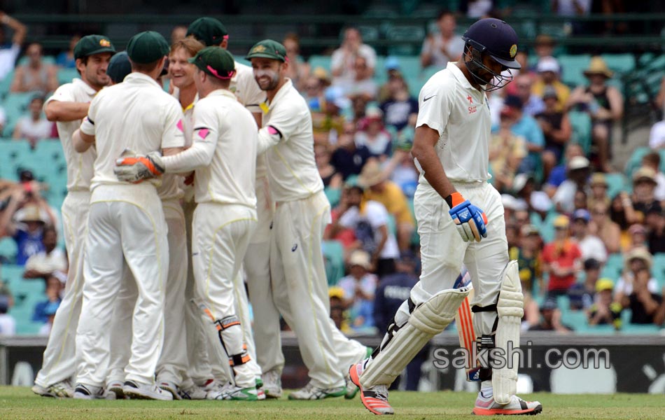
[{"label": "white shirt of the batsman in the navy helmet", "polygon": [[[472,87],[450,62],[425,83],[418,102],[416,127],[427,125],[439,132],[435,149],[448,179],[487,181],[491,121],[485,92]],[[422,171],[419,182],[429,185]]]}]

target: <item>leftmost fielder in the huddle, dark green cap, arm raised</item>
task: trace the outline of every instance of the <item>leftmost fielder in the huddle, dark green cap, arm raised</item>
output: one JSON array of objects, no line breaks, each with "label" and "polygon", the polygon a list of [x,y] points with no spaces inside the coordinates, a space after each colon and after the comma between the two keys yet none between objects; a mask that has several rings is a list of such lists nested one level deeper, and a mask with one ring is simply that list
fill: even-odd
[{"label": "leftmost fielder in the huddle, dark green cap, arm raised", "polygon": [[49,397],[72,397],[69,379],[76,374],[76,327],[83,302],[83,242],[90,206],[90,179],[97,152],[90,148],[76,153],[71,135],[87,115],[90,101],[109,84],[106,68],[116,53],[109,38],[88,35],[74,47],[74,59],[80,78],[57,88],[45,105],[46,117],[56,121],[67,162],[67,195],[62,203],[64,241],[69,256],[69,274],[64,298],[53,320],[41,369],[32,391]]}]

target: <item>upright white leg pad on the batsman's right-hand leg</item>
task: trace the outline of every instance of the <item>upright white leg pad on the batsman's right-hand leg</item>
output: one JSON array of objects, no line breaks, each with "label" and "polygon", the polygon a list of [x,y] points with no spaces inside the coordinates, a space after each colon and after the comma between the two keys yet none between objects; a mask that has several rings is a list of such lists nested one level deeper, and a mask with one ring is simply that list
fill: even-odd
[{"label": "upright white leg pad on the batsman's right-hand leg", "polygon": [[[512,349],[519,348],[519,328],[521,318],[524,316],[524,295],[521,293],[517,261],[508,262],[501,279],[501,291],[496,304],[498,324],[494,346],[506,351],[508,342],[512,342]],[[505,355],[507,356],[507,354]],[[510,365],[510,362],[508,363]],[[517,369],[519,367],[519,354],[513,353],[512,367],[492,369],[492,388],[494,400],[499,404],[510,402],[512,395],[517,393]]]}]

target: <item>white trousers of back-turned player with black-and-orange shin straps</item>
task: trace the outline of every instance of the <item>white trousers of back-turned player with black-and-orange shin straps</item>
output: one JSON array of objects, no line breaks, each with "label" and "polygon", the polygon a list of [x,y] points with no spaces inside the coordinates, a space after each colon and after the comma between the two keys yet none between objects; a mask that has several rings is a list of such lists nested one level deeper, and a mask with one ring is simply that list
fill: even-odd
[{"label": "white trousers of back-turned player with black-and-orange shin straps", "polygon": [[[217,363],[232,363],[235,377],[230,379],[242,388],[255,386],[255,369],[238,314],[237,295],[245,292],[237,279],[255,224],[256,210],[242,205],[199,203],[194,211],[195,296],[202,299],[207,335],[216,343],[211,357],[216,356]],[[237,290],[239,286],[243,290]]]}]

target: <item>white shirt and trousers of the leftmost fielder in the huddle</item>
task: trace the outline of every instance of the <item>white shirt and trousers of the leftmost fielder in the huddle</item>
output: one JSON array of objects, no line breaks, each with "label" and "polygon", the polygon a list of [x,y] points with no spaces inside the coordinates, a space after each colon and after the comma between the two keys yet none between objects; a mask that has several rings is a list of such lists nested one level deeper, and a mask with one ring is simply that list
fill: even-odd
[{"label": "white shirt and trousers of the leftmost fielder in the huddle", "polygon": [[[59,102],[90,102],[97,90],[80,78],[55,90],[44,104]],[[80,127],[81,120],[58,121],[57,132],[67,162],[67,195],[62,202],[62,231],[69,257],[69,272],[64,297],[55,314],[44,360],[35,384],[44,388],[76,374],[76,328],[83,302],[83,244],[90,209],[90,179],[92,165],[97,157],[94,146],[85,153],[76,153],[71,135]]]}]

